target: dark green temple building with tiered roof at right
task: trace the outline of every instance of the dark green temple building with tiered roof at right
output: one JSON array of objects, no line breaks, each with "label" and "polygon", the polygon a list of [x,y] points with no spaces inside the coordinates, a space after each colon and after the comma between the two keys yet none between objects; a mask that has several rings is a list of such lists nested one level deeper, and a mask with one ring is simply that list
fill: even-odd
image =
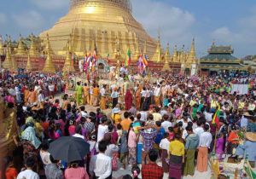
[{"label": "dark green temple building with tiered roof at right", "polygon": [[233,53],[234,49],[231,46],[217,46],[213,42],[211,48],[208,49],[208,55],[200,59],[201,72],[211,74],[218,71],[247,71],[247,66],[241,59],[233,56]]}]

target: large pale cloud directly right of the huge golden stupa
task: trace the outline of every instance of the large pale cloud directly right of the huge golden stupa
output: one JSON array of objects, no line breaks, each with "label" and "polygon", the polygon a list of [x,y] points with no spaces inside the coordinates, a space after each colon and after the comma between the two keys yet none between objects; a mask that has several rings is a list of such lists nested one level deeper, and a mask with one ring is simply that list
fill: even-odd
[{"label": "large pale cloud directly right of the huge golden stupa", "polygon": [[190,45],[193,38],[191,28],[196,20],[189,11],[162,1],[140,0],[134,1],[133,14],[154,38],[160,29],[160,36],[163,37],[161,41],[165,46],[167,42],[172,46],[173,43]]}]

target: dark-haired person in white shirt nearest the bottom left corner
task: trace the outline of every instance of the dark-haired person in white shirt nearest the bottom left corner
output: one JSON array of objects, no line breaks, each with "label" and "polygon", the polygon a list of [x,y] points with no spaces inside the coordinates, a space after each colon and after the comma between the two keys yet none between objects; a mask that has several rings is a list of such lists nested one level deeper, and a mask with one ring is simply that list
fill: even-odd
[{"label": "dark-haired person in white shirt nearest the bottom left corner", "polygon": [[26,170],[21,170],[19,175],[17,176],[17,179],[39,179],[38,174],[32,170],[35,164],[35,159],[33,159],[32,157],[27,158],[25,165]]}]

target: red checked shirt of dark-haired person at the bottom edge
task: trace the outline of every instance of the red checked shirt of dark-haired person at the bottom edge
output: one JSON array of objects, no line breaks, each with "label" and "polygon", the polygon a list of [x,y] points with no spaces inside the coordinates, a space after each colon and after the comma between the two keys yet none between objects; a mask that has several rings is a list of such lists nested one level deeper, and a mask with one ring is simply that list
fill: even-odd
[{"label": "red checked shirt of dark-haired person at the bottom edge", "polygon": [[143,165],[142,176],[143,179],[162,179],[164,170],[154,162],[149,162],[147,165]]}]

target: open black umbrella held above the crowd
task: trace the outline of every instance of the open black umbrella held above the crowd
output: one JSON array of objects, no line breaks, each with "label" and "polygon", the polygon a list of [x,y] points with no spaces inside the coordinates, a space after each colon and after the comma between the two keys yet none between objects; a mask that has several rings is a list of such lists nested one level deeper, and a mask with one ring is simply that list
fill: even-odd
[{"label": "open black umbrella held above the crowd", "polygon": [[62,136],[49,144],[49,153],[54,159],[67,163],[84,159],[90,152],[90,144],[79,137]]}]

